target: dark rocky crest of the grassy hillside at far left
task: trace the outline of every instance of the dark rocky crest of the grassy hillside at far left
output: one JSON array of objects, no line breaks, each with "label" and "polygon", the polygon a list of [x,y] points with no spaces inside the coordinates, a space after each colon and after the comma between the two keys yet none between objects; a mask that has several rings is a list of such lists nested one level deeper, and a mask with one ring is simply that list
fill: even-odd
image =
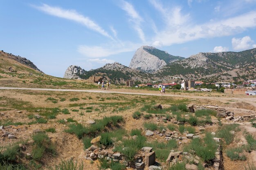
[{"label": "dark rocky crest of the grassy hillside at far left", "polygon": [[[0,51],[0,56],[2,56],[2,57],[7,57],[7,58],[12,59],[12,60],[15,60],[15,61],[17,61],[17,62],[19,62],[19,63],[21,63],[21,64],[24,64],[25,66],[28,66],[28,67],[30,67],[30,68],[33,68],[33,69],[36,70],[36,71],[40,71],[40,70],[37,68],[37,66],[36,66],[33,62],[31,62],[30,60],[27,60],[27,59],[24,58],[24,57],[20,57],[19,55],[16,56],[16,55],[13,55],[13,54],[11,54],[11,53],[6,53],[6,52],[4,52],[4,51]],[[42,71],[40,71],[40,72],[42,72]]]}]

